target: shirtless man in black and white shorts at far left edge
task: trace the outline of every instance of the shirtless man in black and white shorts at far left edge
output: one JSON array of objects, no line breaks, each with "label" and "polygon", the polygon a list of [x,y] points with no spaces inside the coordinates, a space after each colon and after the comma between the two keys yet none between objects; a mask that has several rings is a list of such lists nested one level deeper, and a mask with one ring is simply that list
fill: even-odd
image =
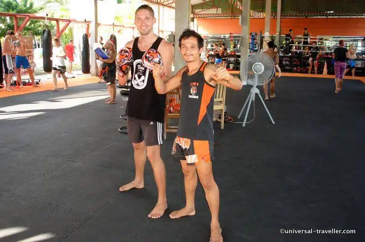
[{"label": "shirtless man in black and white shorts at far left edge", "polygon": [[15,52],[11,49],[11,42],[17,40],[12,30],[8,30],[6,32],[6,36],[4,38],[4,46],[2,48],[2,62],[5,70],[5,83],[6,83],[6,91],[13,92],[11,89],[11,81],[13,80],[13,75],[15,74],[14,64],[13,64],[13,56]]}]

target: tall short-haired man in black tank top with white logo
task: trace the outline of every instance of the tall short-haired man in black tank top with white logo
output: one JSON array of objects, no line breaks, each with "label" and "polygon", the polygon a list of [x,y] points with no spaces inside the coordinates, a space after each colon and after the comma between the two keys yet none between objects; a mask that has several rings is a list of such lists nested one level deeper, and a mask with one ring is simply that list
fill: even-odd
[{"label": "tall short-haired man in black tank top with white logo", "polygon": [[[153,9],[148,5],[141,5],[135,13],[134,23],[141,36],[129,41],[126,47],[132,49],[134,63],[131,67],[132,85],[127,103],[127,131],[134,149],[136,174],[134,180],[119,188],[127,191],[132,188],[144,187],[144,168],[146,158],[151,163],[158,189],[158,201],[154,209],[148,214],[149,218],[160,218],[167,208],[166,176],[164,162],[160,155],[160,145],[163,142],[163,122],[165,95],[156,92],[152,73],[142,64],[145,52],[154,48],[161,53],[165,69],[165,79],[171,75],[173,46],[153,33],[156,23]],[[127,82],[128,71],[119,77],[119,83]]]}]

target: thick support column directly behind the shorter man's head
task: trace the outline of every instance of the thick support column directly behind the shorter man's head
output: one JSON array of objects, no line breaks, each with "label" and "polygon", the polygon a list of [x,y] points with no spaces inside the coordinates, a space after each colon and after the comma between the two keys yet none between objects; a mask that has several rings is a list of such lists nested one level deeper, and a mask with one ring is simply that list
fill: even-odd
[{"label": "thick support column directly behind the shorter man's head", "polygon": [[176,0],[175,1],[175,9],[179,9],[179,11],[175,11],[175,74],[185,66],[185,61],[183,56],[180,53],[179,48],[179,37],[183,33],[183,30],[189,28],[190,24],[190,9],[191,9],[190,0]]}]

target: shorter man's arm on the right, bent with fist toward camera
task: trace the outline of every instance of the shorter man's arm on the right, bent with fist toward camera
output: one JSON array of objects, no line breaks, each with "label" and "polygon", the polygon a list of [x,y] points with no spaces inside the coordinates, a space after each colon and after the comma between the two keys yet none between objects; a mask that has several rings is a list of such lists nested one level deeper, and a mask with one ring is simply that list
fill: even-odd
[{"label": "shorter man's arm on the right, bent with fist toward camera", "polygon": [[214,82],[232,88],[233,90],[240,90],[243,86],[243,82],[237,76],[229,74],[225,67],[219,67],[210,63],[204,69],[204,78],[210,83],[212,83],[213,79]]}]

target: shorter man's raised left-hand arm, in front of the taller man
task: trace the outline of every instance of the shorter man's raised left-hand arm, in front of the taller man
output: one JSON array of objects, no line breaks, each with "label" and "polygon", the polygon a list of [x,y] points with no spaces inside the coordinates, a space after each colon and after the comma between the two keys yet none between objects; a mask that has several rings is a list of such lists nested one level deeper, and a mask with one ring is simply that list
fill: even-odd
[{"label": "shorter man's raised left-hand arm, in front of the taller man", "polygon": [[187,69],[186,66],[184,66],[182,69],[178,71],[178,73],[174,76],[172,76],[167,81],[164,81],[161,79],[161,74],[164,72],[164,66],[160,66],[158,64],[155,64],[153,66],[153,78],[155,79],[155,88],[157,93],[159,94],[165,94],[168,93],[171,90],[174,90],[181,86],[181,80],[183,77],[183,72]]}]

